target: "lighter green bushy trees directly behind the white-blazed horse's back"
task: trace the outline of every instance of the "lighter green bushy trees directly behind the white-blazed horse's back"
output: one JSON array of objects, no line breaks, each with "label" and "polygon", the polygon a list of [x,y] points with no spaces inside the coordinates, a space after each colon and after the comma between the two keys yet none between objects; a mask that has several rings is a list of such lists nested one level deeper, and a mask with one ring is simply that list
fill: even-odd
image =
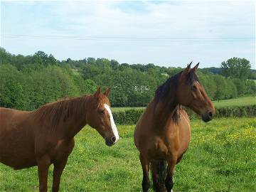
[{"label": "lighter green bushy trees directly behind the white-blazed horse's back", "polygon": [[24,71],[1,65],[0,80],[0,106],[19,110],[34,110],[63,97],[91,94],[97,88],[92,80],[83,80],[56,65]]}]

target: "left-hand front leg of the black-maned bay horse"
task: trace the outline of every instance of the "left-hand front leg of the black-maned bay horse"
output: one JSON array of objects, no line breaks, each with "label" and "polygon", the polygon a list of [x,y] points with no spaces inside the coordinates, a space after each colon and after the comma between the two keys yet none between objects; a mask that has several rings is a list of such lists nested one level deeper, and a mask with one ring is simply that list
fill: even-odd
[{"label": "left-hand front leg of the black-maned bay horse", "polygon": [[150,181],[149,181],[149,161],[142,154],[139,155],[139,160],[142,164],[143,180],[142,180],[142,190],[143,192],[149,191]]}]

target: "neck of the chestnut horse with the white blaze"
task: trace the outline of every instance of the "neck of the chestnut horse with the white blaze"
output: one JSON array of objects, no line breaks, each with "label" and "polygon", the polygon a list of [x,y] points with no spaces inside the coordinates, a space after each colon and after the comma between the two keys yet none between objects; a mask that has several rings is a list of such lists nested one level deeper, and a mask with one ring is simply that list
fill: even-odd
[{"label": "neck of the chestnut horse with the white blaze", "polygon": [[32,113],[41,127],[58,133],[61,138],[72,138],[85,127],[87,102],[90,96],[76,97],[45,105]]}]

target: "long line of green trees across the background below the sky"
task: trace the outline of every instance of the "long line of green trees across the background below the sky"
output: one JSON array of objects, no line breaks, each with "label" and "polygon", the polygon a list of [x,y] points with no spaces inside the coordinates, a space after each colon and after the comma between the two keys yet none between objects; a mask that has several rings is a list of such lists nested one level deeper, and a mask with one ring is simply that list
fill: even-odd
[{"label": "long line of green trees across the background below the sky", "polygon": [[[231,59],[233,63],[241,62],[240,58]],[[242,78],[233,77],[233,73],[227,75],[225,67],[223,65],[222,75],[198,69],[198,77],[212,100],[256,94],[255,81],[247,79],[250,63],[246,63],[247,72],[240,73]],[[112,88],[112,106],[142,107],[152,100],[161,83],[181,70],[153,63],[120,64],[106,58],[60,61],[43,51],[24,56],[12,55],[0,48],[0,106],[33,110],[63,97],[91,94],[101,86]]]}]

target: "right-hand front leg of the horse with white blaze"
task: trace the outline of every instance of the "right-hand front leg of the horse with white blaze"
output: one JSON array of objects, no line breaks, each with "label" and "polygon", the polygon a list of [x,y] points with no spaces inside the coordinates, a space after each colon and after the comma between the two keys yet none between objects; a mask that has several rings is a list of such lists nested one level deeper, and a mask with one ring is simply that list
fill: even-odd
[{"label": "right-hand front leg of the horse with white blaze", "polygon": [[63,169],[65,168],[65,165],[67,164],[68,156],[64,159],[61,159],[60,161],[53,162],[54,169],[53,169],[53,192],[58,192],[60,187],[60,176],[63,173]]}]

